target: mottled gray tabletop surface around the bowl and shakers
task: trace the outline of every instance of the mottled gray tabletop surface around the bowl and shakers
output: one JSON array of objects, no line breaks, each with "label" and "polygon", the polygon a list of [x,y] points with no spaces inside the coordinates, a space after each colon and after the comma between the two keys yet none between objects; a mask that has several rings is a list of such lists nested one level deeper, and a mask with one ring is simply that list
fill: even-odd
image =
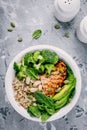
[{"label": "mottled gray tabletop surface around the bowl and shakers", "polygon": [[[58,22],[53,14],[54,0],[0,0],[0,130],[87,130],[87,45],[75,36],[81,19],[87,15],[87,0],[81,0],[81,9],[69,23]],[[12,33],[10,22],[16,23]],[[59,23],[61,28],[54,29]],[[32,32],[42,29],[43,35],[32,40]],[[64,34],[70,33],[70,38]],[[22,43],[17,39],[21,36]],[[50,44],[64,49],[76,61],[82,74],[82,92],[78,103],[65,117],[39,124],[24,119],[10,105],[5,94],[5,74],[10,61],[21,50],[38,44]]]}]

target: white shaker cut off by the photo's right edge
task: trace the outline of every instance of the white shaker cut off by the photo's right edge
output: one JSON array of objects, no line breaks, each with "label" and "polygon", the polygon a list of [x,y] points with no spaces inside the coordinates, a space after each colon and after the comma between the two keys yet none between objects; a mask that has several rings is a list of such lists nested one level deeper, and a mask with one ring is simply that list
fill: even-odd
[{"label": "white shaker cut off by the photo's right edge", "polygon": [[87,16],[80,22],[77,29],[77,37],[81,42],[87,43]]}]

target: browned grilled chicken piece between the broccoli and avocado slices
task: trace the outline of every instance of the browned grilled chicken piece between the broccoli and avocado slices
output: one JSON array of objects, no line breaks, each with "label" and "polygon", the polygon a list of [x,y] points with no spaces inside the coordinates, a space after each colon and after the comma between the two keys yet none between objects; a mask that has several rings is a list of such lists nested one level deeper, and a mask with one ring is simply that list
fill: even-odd
[{"label": "browned grilled chicken piece between the broccoli and avocado slices", "polygon": [[43,92],[46,95],[54,95],[58,87],[62,87],[67,76],[67,68],[63,61],[57,63],[55,71],[49,76],[42,75],[41,82],[43,85]]}]

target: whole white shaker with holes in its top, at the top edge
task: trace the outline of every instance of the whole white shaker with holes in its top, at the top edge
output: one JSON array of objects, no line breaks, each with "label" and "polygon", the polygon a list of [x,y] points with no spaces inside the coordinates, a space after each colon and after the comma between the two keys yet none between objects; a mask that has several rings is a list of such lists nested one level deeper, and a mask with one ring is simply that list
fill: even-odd
[{"label": "whole white shaker with holes in its top, at the top edge", "polygon": [[80,9],[80,0],[55,0],[55,17],[61,22],[72,20]]}]

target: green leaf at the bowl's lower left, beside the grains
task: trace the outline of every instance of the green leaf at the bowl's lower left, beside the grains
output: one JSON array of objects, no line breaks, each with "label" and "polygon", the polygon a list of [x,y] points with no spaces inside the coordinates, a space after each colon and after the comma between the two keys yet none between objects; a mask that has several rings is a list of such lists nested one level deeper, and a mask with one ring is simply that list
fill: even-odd
[{"label": "green leaf at the bowl's lower left, beside the grains", "polygon": [[41,116],[41,113],[37,106],[29,106],[27,111],[28,113],[32,113],[32,115],[34,115],[35,117],[39,118]]}]

